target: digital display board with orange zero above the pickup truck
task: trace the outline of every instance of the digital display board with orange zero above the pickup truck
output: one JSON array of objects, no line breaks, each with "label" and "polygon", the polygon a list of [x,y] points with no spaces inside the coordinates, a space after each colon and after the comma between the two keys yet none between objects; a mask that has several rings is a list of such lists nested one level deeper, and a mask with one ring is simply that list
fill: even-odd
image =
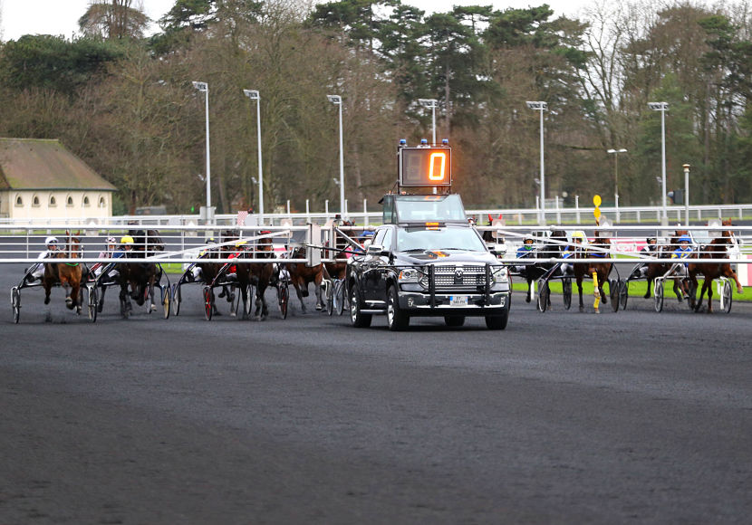
[{"label": "digital display board with orange zero above the pickup truck", "polygon": [[451,148],[400,148],[400,186],[451,186]]}]

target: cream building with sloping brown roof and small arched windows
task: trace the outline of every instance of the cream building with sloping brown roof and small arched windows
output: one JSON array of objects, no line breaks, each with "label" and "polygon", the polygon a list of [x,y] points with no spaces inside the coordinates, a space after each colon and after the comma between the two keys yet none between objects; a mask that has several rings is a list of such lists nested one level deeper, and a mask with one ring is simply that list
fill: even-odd
[{"label": "cream building with sloping brown roof and small arched windows", "polygon": [[115,191],[60,140],[0,138],[0,218],[108,218]]}]

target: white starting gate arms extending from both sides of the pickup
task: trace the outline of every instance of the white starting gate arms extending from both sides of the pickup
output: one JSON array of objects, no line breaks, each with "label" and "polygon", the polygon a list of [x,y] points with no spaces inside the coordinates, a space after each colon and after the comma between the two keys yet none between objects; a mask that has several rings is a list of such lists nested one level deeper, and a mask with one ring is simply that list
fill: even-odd
[{"label": "white starting gate arms extending from both sides of the pickup", "polygon": [[[14,225],[13,229],[0,231],[0,263],[32,263],[37,261],[39,253],[43,253],[46,248],[44,245],[45,238],[54,234],[61,244],[66,243],[66,230],[73,230],[77,226],[69,223],[46,224],[45,231],[40,231],[38,225]],[[133,225],[124,227],[119,226],[95,226],[88,224],[79,233],[81,241],[82,257],[71,259],[58,259],[56,262],[111,262],[111,258],[101,258],[99,253],[106,249],[105,240],[108,236],[114,236],[118,241],[121,237],[129,234],[135,229]],[[156,229],[156,228],[155,228]],[[332,227],[320,228],[314,224],[308,225],[285,225],[285,226],[234,226],[227,228],[232,231],[229,236],[223,233],[226,228],[207,225],[169,225],[159,227],[156,235],[148,237],[149,243],[156,242],[156,236],[159,236],[161,243],[164,244],[164,250],[152,255],[146,259],[133,259],[137,262],[177,262],[188,263],[197,262],[199,255],[209,249],[217,248],[215,243],[207,243],[210,238],[216,239],[219,246],[228,246],[230,252],[233,251],[236,237],[245,240],[249,245],[253,245],[260,240],[271,238],[274,247],[275,257],[273,259],[245,259],[244,262],[308,262],[317,263],[318,261],[329,262],[333,260],[335,253],[328,249],[309,249],[303,258],[289,259],[285,258],[291,246],[300,246],[311,248],[312,246],[323,246],[331,248],[337,244],[336,233]],[[353,236],[359,237],[368,227],[359,226],[353,228]],[[554,230],[564,230],[571,240],[574,229],[582,230],[589,238],[593,237],[594,226],[582,227],[576,226],[478,226],[479,233],[491,231],[496,237],[493,242],[489,243],[492,248],[503,248],[506,252],[504,262],[512,262],[515,259],[516,249],[522,244],[522,239],[527,234],[532,234],[537,239],[537,244],[554,243],[549,239],[549,235]],[[645,238],[654,236],[659,239],[659,243],[668,243],[674,234],[675,228],[666,228],[655,225],[609,225],[600,228],[603,236],[611,239],[611,248],[606,250],[607,257],[592,259],[592,262],[645,262],[654,260],[651,257],[640,253],[641,247],[645,243]],[[721,227],[717,225],[709,226],[682,226],[681,229],[689,230],[693,238],[695,251],[700,250],[700,246],[709,243],[713,238],[720,236]],[[730,226],[734,234],[734,243],[728,252],[728,258],[718,260],[705,260],[706,262],[735,262],[744,263],[752,259],[752,226]],[[361,239],[363,240],[363,239]],[[597,248],[594,248],[597,251]],[[122,262],[129,259],[123,259]],[[228,262],[230,259],[213,259],[216,262]],[[562,262],[562,259],[530,258],[528,262]],[[581,260],[584,261],[584,260]]]}]

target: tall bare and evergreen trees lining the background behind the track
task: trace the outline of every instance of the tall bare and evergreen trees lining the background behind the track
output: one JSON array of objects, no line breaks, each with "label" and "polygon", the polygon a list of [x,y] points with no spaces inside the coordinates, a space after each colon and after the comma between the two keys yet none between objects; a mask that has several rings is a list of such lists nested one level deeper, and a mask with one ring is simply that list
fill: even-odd
[{"label": "tall bare and evergreen trees lining the background behind the track", "polygon": [[[176,0],[159,33],[132,0],[100,0],[81,36],[0,45],[0,133],[61,138],[119,188],[118,210],[205,199],[207,82],[212,195],[219,212],[257,207],[260,93],[265,210],[339,209],[338,108],[351,210],[396,179],[395,150],[431,136],[454,148],[466,205],[532,207],[543,100],[546,197],[618,191],[660,202],[660,112],[669,189],[691,165],[693,204],[752,202],[752,17],[745,2],[595,0],[579,18],[548,5],[456,6],[426,14],[400,0]],[[613,155],[618,158],[618,188]]]}]

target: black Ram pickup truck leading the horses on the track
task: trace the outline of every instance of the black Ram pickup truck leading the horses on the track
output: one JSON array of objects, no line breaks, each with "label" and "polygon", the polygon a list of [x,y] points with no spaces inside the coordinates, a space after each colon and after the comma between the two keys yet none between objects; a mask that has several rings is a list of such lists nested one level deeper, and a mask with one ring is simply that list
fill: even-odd
[{"label": "black Ram pickup truck leading the horses on the track", "polygon": [[[388,224],[348,262],[352,325],[368,327],[372,315],[385,313],[392,330],[419,316],[444,317],[454,327],[481,316],[489,329],[505,329],[509,274],[468,224],[458,196],[390,197]],[[439,220],[419,221],[426,213]]]}]

